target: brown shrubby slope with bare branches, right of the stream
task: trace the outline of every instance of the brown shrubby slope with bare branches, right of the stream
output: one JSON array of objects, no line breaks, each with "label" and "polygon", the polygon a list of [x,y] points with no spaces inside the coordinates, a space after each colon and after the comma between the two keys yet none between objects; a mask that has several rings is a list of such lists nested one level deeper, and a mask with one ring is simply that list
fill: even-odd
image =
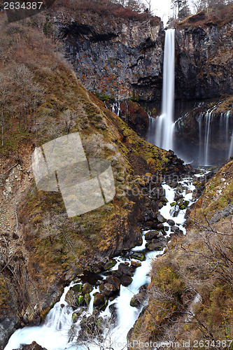
[{"label": "brown shrubby slope with bare branches, right of the stream", "polygon": [[187,235],[174,237],[153,262],[149,303],[130,335],[134,344],[232,349],[232,174],[233,160],[191,207]]}]

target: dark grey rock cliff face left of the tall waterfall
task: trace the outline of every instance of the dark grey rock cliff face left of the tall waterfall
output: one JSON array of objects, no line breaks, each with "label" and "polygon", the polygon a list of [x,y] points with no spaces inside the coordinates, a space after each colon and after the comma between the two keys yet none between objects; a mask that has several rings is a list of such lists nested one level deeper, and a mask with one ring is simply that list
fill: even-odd
[{"label": "dark grey rock cliff face left of the tall waterfall", "polygon": [[54,26],[85,87],[115,99],[160,99],[164,30],[158,18],[62,18]]}]

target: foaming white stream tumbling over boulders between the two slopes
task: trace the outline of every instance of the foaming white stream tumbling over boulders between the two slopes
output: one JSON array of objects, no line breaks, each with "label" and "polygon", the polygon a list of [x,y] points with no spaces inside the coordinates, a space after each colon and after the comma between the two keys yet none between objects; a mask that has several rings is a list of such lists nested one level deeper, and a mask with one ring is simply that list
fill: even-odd
[{"label": "foaming white stream tumbling over boulders between the two slopes", "polygon": [[[187,190],[194,190],[192,186],[192,179],[184,179],[179,182],[183,186],[183,197],[184,200],[189,200],[192,204],[192,193],[186,194]],[[167,204],[160,209],[160,213],[164,218],[175,221],[176,226],[183,230],[185,234],[185,211],[178,211],[178,206],[171,207],[171,202],[174,202],[174,195],[176,189],[170,188],[167,184],[163,184],[162,187],[165,191],[165,196],[167,197]],[[175,211],[178,211],[178,215],[174,216]],[[167,223],[164,223],[164,226],[168,227],[167,236],[171,233],[171,228]],[[143,236],[146,232],[143,232]],[[146,240],[143,237],[143,243],[140,247],[135,247],[132,251],[140,251],[145,248]],[[141,307],[131,307],[130,300],[131,298],[139,293],[139,288],[145,284],[150,283],[150,263],[153,258],[157,255],[161,255],[164,251],[150,251],[146,254],[146,260],[141,262],[141,267],[137,267],[136,272],[133,276],[133,281],[128,287],[120,286],[120,295],[115,298],[112,302],[108,303],[108,307],[105,311],[102,311],[100,316],[104,319],[108,319],[111,316],[109,306],[115,304],[117,307],[117,324],[111,329],[106,329],[104,334],[104,339],[106,347],[112,346],[114,350],[122,350],[123,347],[127,347],[127,333],[130,328],[134,325],[136,319],[139,317],[141,312]],[[112,268],[118,269],[120,262],[130,261],[124,260],[121,257],[115,258],[118,263]],[[73,324],[72,313],[73,310],[68,306],[64,300],[65,295],[69,288],[74,283],[71,283],[69,287],[64,288],[64,293],[61,297],[61,300],[55,304],[55,306],[50,310],[48,316],[46,317],[45,324],[38,327],[25,327],[20,330],[16,330],[14,334],[10,337],[10,340],[5,348],[5,350],[13,350],[20,347],[20,344],[31,344],[31,342],[36,341],[41,346],[44,346],[48,350],[83,350],[87,349],[85,344],[77,344],[78,331],[80,330],[79,323],[82,317],[89,316],[93,311],[93,300],[94,293],[99,290],[99,287],[94,288],[91,293],[91,302],[87,311],[84,311],[78,322]],[[62,304],[64,307],[62,307]],[[80,309],[80,308],[78,308]],[[72,331],[71,326],[74,327]],[[100,346],[97,344],[88,344],[89,349],[100,349]],[[103,346],[103,344],[101,344]],[[101,348],[103,349],[103,347]]]}]

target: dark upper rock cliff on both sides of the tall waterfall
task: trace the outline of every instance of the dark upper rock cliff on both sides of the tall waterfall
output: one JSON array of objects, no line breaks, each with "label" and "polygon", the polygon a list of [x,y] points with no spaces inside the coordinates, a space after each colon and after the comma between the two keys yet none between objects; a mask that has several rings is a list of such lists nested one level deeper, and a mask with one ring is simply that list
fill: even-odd
[{"label": "dark upper rock cliff on both sides of the tall waterfall", "polygon": [[[222,22],[203,12],[176,25],[177,99],[232,94],[232,8],[227,11]],[[118,100],[161,99],[164,29],[159,18],[57,8],[49,18],[88,90]]]}]

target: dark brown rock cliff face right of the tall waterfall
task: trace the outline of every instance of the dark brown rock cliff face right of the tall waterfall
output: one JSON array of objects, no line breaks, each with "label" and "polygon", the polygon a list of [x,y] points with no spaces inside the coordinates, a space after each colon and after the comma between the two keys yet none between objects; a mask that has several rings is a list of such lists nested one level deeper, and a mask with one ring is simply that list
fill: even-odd
[{"label": "dark brown rock cliff face right of the tall waterfall", "polygon": [[[202,16],[201,16],[202,15]],[[206,99],[232,94],[232,26],[192,17],[176,28],[176,98]],[[200,16],[202,22],[200,21]],[[197,25],[195,22],[197,21]]]}]

